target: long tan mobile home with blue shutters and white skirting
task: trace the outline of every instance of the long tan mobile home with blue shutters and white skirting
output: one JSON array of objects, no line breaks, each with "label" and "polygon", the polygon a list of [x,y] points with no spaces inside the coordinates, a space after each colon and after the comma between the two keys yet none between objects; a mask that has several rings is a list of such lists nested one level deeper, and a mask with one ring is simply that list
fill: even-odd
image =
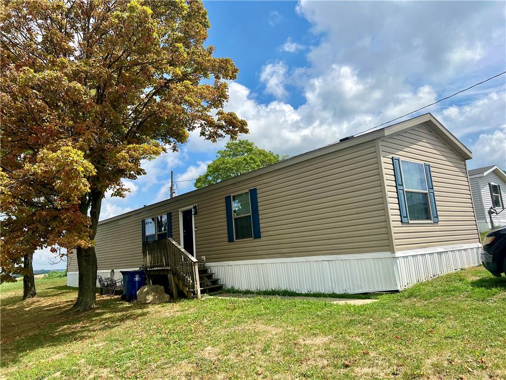
[{"label": "long tan mobile home with blue shutters and white skirting", "polygon": [[430,113],[350,136],[102,220],[98,271],[186,268],[194,295],[402,290],[480,263],[471,158]]}]

